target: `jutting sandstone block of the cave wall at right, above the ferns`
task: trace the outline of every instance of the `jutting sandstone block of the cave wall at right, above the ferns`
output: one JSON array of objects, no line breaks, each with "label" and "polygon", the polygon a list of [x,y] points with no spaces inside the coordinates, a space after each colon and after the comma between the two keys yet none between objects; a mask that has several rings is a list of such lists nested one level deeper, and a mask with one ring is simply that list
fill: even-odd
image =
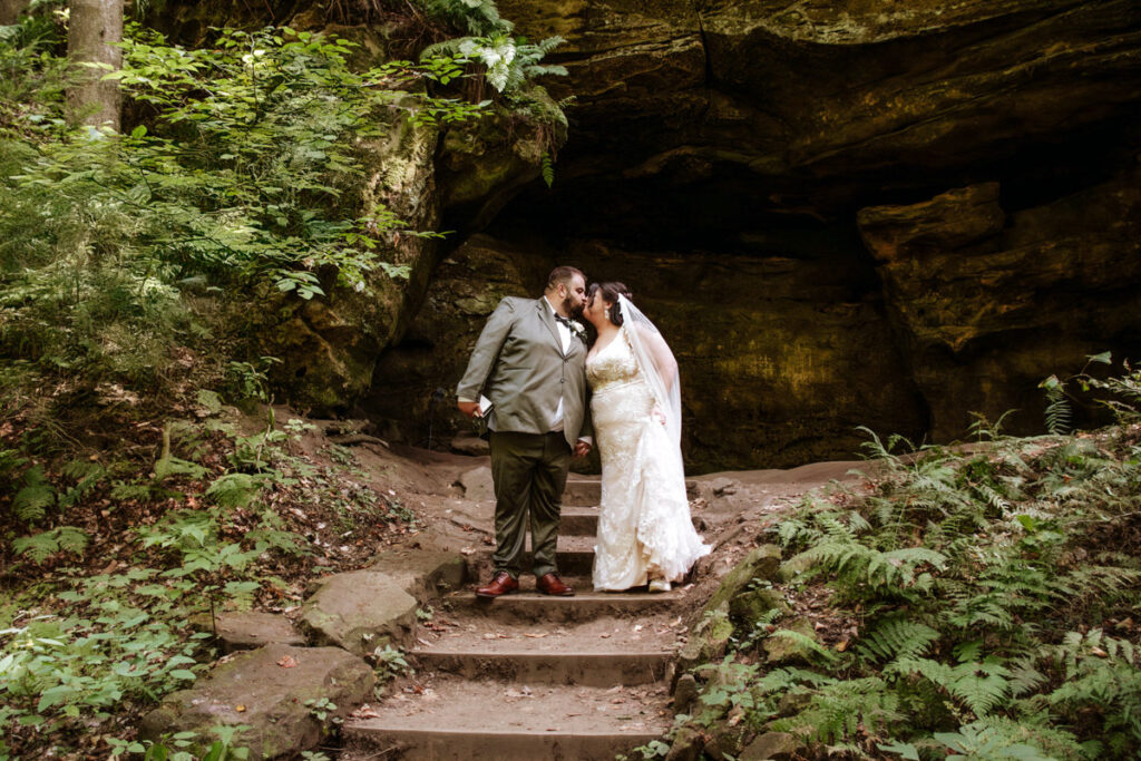
[{"label": "jutting sandstone block of the cave wall at right, above the ferns", "polygon": [[858,214],[938,440],[968,411],[1033,429],[1036,384],[1085,355],[1135,350],[1141,177],[1008,213],[996,183]]}]

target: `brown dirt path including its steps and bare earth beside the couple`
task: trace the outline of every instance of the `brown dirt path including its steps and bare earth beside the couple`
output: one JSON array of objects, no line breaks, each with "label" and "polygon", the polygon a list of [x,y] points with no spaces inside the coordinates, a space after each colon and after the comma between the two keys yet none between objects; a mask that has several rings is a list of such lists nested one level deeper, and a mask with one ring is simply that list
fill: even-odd
[{"label": "brown dirt path including its steps and bare earth beside the couple", "polygon": [[[418,542],[463,552],[471,581],[487,577],[486,458],[374,451],[361,460],[408,489],[424,523]],[[518,594],[482,600],[471,584],[442,599],[408,651],[415,674],[345,726],[342,758],[613,759],[657,738],[673,721],[669,685],[690,614],[800,495],[850,478],[856,464],[693,479],[695,523],[717,549],[694,584],[665,594],[592,590],[599,484],[572,477],[558,562],[577,594],[541,596],[525,576]]]}]

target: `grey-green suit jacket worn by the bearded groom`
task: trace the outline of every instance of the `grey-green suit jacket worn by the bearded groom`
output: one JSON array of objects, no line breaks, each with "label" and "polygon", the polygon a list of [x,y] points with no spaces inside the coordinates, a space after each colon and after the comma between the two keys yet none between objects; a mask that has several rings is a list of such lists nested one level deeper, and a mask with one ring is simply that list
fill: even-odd
[{"label": "grey-green suit jacket worn by the bearded groom", "polygon": [[483,394],[494,407],[493,431],[545,434],[563,399],[563,432],[573,447],[592,434],[586,402],[586,345],[563,339],[544,298],[507,297],[487,318],[456,387],[461,399]]}]

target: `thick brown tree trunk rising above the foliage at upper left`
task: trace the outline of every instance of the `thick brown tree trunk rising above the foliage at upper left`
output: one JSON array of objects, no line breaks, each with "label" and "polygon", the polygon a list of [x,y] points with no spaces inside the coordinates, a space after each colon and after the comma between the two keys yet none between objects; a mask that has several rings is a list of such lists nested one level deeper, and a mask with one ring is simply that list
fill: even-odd
[{"label": "thick brown tree trunk rising above the foliage at upper left", "polygon": [[[7,0],[0,0],[3,2]],[[119,131],[121,96],[115,81],[100,82],[106,70],[83,66],[83,63],[122,66],[122,50],[114,43],[123,39],[123,0],[71,0],[67,25],[67,57],[76,83],[67,91],[72,123],[102,127]]]}]

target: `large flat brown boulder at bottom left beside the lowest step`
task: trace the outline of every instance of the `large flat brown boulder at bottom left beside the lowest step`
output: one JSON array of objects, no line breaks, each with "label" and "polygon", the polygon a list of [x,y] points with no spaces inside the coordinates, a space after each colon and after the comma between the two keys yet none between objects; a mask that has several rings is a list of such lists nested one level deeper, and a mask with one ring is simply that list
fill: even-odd
[{"label": "large flat brown boulder at bottom left beside the lowest step", "polygon": [[[335,719],[345,719],[371,697],[374,681],[369,664],[340,648],[267,645],[222,662],[194,687],[163,697],[143,719],[139,736],[159,740],[193,731],[205,747],[216,739],[211,728],[244,726],[230,746],[249,748],[251,761],[294,758],[316,747]],[[318,703],[327,713],[321,720]]]}]

